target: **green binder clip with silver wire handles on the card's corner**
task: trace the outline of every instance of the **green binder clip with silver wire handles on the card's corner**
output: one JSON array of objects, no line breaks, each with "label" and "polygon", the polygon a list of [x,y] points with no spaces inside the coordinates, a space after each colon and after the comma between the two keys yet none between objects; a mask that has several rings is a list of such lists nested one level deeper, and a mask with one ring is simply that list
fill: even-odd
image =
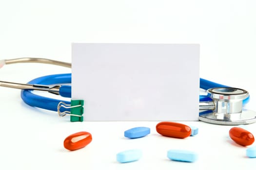
[{"label": "green binder clip with silver wire handles on the card's corner", "polygon": [[[66,104],[64,102],[59,102],[57,112],[60,117],[69,115],[71,122],[83,121],[83,100],[71,100],[71,104]],[[60,108],[64,107],[70,109],[70,111],[60,111]]]}]

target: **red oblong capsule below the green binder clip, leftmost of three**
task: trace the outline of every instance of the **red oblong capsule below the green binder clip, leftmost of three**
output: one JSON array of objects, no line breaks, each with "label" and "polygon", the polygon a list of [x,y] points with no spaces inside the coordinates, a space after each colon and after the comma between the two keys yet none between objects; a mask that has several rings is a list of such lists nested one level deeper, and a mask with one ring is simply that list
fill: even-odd
[{"label": "red oblong capsule below the green binder clip, leftmost of three", "polygon": [[89,132],[78,132],[67,136],[64,140],[64,148],[75,151],[88,145],[92,141],[92,135]]}]

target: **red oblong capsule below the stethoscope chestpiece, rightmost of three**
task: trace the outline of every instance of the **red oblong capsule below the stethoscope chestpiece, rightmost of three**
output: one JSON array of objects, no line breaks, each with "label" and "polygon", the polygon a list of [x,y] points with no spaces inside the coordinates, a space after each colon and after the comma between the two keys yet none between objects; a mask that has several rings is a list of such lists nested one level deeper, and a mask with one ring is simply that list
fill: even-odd
[{"label": "red oblong capsule below the stethoscope chestpiece, rightmost of three", "polygon": [[254,136],[247,130],[240,127],[233,127],[229,130],[229,136],[237,144],[242,146],[248,146],[254,143]]}]

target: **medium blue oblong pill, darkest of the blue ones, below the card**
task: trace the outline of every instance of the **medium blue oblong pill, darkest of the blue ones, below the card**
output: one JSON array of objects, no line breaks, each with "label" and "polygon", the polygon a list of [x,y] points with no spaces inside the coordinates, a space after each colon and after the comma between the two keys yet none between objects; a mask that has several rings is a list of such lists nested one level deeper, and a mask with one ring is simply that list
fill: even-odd
[{"label": "medium blue oblong pill, darkest of the blue ones, below the card", "polygon": [[148,127],[135,127],[124,131],[124,136],[129,138],[144,137],[150,134],[150,128]]}]

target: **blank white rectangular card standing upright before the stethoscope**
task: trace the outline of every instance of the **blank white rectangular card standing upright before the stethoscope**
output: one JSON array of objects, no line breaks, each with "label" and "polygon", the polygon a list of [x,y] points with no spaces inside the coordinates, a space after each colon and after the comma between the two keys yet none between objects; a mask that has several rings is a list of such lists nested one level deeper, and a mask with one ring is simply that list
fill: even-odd
[{"label": "blank white rectangular card standing upright before the stethoscope", "polygon": [[72,44],[84,121],[198,120],[198,44]]}]

